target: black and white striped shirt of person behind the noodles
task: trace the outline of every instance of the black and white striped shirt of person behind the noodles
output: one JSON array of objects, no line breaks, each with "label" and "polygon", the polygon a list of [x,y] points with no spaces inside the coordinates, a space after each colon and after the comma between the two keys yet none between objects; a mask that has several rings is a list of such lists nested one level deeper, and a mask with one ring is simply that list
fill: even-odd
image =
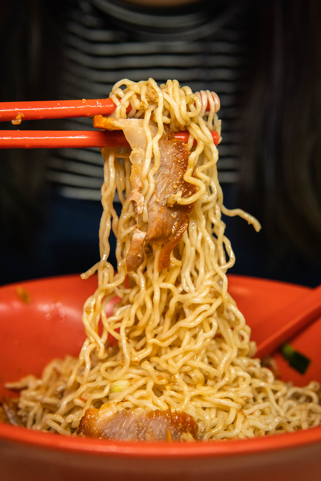
[{"label": "black and white striped shirt of person behind the noodles", "polygon": [[[240,98],[250,70],[248,2],[196,3],[170,14],[126,8],[109,0],[73,3],[63,30],[63,99],[106,98],[121,78],[177,79],[193,91],[209,89],[221,101],[218,178],[238,180]],[[214,11],[215,5],[215,11]],[[93,129],[87,118],[65,119],[67,130]],[[61,195],[100,200],[99,149],[59,149],[48,159],[48,180]]]}]

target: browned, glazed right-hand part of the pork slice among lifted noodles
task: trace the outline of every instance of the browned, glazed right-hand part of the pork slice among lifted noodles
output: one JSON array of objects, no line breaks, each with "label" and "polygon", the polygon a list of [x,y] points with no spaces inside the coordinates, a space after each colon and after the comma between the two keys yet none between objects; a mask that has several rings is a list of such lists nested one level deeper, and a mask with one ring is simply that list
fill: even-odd
[{"label": "browned, glazed right-hand part of the pork slice among lifted noodles", "polygon": [[145,242],[154,241],[162,245],[158,257],[158,271],[170,264],[170,253],[179,243],[187,226],[193,203],[180,205],[174,199],[178,190],[182,198],[193,195],[196,187],[183,178],[189,152],[182,140],[176,139],[174,133],[165,127],[158,142],[160,166],[154,175],[154,194],[148,203],[148,228]]}]

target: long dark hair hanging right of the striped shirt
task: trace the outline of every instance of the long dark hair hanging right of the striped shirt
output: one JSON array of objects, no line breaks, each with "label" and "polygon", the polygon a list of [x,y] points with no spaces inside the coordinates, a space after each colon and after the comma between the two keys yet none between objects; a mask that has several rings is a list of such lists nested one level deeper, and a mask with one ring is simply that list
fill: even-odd
[{"label": "long dark hair hanging right of the striped shirt", "polygon": [[240,192],[262,220],[272,272],[295,256],[321,263],[321,3],[259,3]]}]

